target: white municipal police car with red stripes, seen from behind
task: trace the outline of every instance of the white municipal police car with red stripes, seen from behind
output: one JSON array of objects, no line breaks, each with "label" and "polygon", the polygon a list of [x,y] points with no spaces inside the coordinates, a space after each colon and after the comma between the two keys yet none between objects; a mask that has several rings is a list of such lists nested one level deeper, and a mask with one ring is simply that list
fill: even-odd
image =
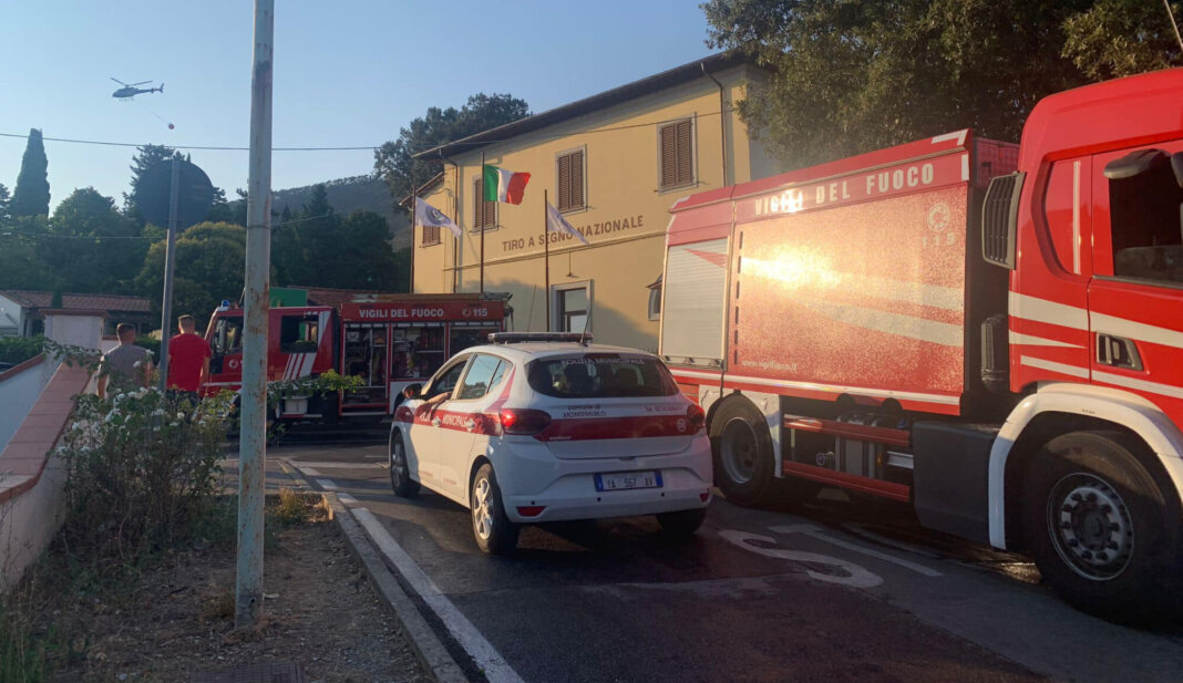
[{"label": "white municipal police car with red stripes, seen from behind", "polygon": [[689,536],[711,501],[702,409],[652,353],[589,336],[502,333],[455,356],[390,428],[390,484],[467,507],[481,551],[518,525],[655,514]]}]

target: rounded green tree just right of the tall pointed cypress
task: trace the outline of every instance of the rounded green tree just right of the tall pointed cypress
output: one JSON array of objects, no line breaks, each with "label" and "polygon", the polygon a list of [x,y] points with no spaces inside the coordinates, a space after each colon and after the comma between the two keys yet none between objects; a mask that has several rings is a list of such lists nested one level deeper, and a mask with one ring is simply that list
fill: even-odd
[{"label": "rounded green tree just right of the tall pointed cypress", "polygon": [[41,260],[62,278],[67,292],[132,292],[147,240],[95,188],[75,190],[58,204],[39,241]]}]

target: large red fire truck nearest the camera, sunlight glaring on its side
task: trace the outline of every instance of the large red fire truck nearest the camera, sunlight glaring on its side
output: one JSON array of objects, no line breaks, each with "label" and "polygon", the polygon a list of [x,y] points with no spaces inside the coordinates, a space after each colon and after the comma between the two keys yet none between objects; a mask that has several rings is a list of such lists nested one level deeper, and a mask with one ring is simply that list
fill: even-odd
[{"label": "large red fire truck nearest the camera, sunlight glaring on its side", "polygon": [[677,202],[660,353],[726,496],[906,501],[1113,619],[1176,592],[1181,93],[1114,80],[1019,147],[963,130]]}]

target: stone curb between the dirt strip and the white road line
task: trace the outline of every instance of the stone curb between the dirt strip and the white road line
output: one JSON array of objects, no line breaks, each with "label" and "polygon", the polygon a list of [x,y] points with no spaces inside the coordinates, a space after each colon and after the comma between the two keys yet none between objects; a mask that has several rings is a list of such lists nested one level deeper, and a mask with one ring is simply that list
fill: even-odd
[{"label": "stone curb between the dirt strip and the white road line", "polygon": [[332,518],[341,528],[341,533],[349,541],[354,555],[366,567],[370,585],[374,586],[390,609],[390,612],[394,613],[400,629],[411,643],[411,649],[414,650],[415,656],[419,657],[419,662],[432,678],[439,683],[468,683],[468,677],[464,675],[464,671],[455,663],[455,659],[452,658],[452,655],[448,653],[447,648],[440,642],[435,631],[427,624],[424,616],[419,613],[419,609],[407,597],[406,591],[399,585],[397,579],[395,579],[390,568],[387,567],[377,548],[370,542],[369,536],[366,535],[361,525],[354,519],[354,514],[349,508],[337,499],[337,494],[332,492],[318,492],[308,483],[308,480],[304,479],[304,475],[296,467],[284,458],[276,460],[279,461],[279,467],[292,481],[297,482],[305,490],[319,493],[329,502],[329,507],[332,509]]}]

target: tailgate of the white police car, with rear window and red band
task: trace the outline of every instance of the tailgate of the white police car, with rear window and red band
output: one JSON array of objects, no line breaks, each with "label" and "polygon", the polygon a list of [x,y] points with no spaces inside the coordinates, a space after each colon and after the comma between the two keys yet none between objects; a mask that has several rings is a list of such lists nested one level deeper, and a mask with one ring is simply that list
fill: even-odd
[{"label": "tailgate of the white police car, with rear window and red band", "polygon": [[697,431],[687,415],[690,401],[653,357],[548,357],[532,362],[528,376],[531,408],[551,417],[536,438],[558,458],[681,453]]}]

